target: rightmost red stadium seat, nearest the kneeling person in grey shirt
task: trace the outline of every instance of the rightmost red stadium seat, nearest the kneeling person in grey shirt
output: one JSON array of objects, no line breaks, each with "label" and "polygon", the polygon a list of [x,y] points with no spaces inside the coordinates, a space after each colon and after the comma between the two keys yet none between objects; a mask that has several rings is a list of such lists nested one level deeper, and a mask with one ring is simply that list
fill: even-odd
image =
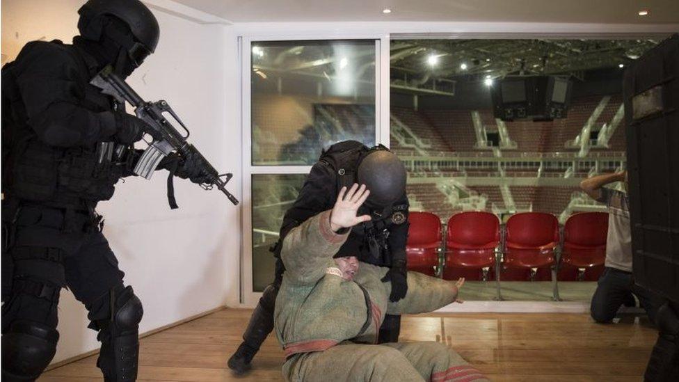
[{"label": "rightmost red stadium seat, nearest the kneeling person in grey shirt", "polygon": [[606,260],[608,214],[583,212],[568,218],[564,225],[564,264],[585,269],[600,269]]}]

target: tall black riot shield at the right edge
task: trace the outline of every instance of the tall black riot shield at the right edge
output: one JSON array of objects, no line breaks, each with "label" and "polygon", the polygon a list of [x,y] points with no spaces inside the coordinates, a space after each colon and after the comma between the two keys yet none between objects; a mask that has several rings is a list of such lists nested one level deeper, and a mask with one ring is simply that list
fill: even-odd
[{"label": "tall black riot shield at the right edge", "polygon": [[623,80],[634,279],[679,301],[679,35]]}]

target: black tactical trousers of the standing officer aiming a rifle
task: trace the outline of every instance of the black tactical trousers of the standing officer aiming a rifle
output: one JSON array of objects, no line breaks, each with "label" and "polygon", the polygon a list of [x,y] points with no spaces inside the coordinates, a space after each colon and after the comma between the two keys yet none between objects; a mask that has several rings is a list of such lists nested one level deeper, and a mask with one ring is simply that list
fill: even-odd
[{"label": "black tactical trousers of the standing officer aiming a rifle", "polygon": [[[97,321],[106,322],[111,317],[111,294],[125,291],[124,273],[118,269],[118,261],[93,216],[39,205],[24,205],[11,214],[7,210],[3,201],[3,379],[6,373],[17,370],[17,375],[40,374],[54,357],[62,287],[69,288],[85,305],[90,328],[95,330],[101,329]],[[7,278],[11,284],[6,284]],[[31,345],[37,347],[38,354],[28,361],[20,359],[26,354],[17,351],[26,337],[17,335],[15,344],[6,340],[13,338],[8,333],[23,334],[26,327],[33,333],[35,328],[47,333],[45,341],[36,340]]]}]

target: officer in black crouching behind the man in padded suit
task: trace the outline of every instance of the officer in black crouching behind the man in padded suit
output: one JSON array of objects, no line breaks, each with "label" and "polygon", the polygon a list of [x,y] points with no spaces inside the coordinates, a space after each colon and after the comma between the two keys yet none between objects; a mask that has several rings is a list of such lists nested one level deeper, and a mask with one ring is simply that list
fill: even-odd
[{"label": "officer in black crouching behind the man in padded suit", "polygon": [[[321,154],[294,205],[283,217],[280,239],[273,248],[275,280],[264,289],[262,299],[259,299],[243,333],[243,343],[229,359],[228,365],[234,372],[241,374],[250,369],[255,353],[273,330],[275,298],[285,271],[280,260],[280,247],[285,235],[308,218],[331,209],[342,186],[349,187],[354,183],[365,184],[370,190],[370,196],[359,214],[369,214],[372,220],[352,228],[339,253],[356,256],[369,264],[390,267],[383,279],[392,282],[390,301],[399,301],[406,296],[406,169],[398,157],[382,145],[367,148],[357,141],[336,143]],[[401,316],[387,315],[380,328],[379,341],[397,342],[400,327]]]}]

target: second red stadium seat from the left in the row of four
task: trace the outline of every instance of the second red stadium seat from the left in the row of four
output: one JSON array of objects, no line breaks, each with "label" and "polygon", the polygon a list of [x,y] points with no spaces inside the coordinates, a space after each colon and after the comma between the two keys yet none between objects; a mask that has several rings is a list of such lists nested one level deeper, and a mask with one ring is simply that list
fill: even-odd
[{"label": "second red stadium seat from the left in the row of four", "polygon": [[443,278],[454,280],[463,276],[479,280],[484,274],[481,269],[487,272],[491,266],[495,266],[495,248],[499,244],[500,221],[494,214],[461,212],[453,215],[448,220],[446,230]]}]

